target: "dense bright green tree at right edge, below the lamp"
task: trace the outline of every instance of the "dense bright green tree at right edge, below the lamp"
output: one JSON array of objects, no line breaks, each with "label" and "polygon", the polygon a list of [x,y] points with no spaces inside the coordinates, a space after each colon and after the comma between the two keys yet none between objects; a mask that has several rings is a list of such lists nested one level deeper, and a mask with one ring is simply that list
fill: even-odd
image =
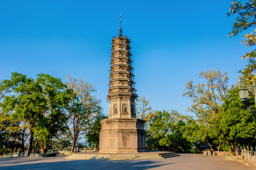
[{"label": "dense bright green tree at right edge, below the lamp", "polygon": [[[250,96],[253,98],[253,95]],[[229,145],[230,152],[238,154],[237,145],[256,142],[255,102],[239,99],[238,89],[228,91],[228,96],[220,107],[220,114],[213,119],[213,129]]]}]

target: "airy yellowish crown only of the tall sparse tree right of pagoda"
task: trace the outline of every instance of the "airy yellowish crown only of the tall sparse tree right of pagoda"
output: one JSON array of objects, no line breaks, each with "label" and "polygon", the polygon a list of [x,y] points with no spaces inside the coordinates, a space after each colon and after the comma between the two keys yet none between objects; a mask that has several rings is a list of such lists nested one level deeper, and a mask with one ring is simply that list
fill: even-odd
[{"label": "airy yellowish crown only of the tall sparse tree right of pagoda", "polygon": [[182,96],[192,101],[188,110],[194,112],[203,123],[209,123],[219,114],[219,106],[227,97],[229,78],[226,72],[210,69],[199,73],[198,79],[201,79],[202,83],[193,85],[190,80]]}]

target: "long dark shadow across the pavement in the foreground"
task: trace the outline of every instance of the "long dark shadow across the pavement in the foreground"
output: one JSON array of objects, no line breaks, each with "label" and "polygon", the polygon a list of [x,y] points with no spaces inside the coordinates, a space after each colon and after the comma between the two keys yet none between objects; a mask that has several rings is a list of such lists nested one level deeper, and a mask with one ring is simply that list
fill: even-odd
[{"label": "long dark shadow across the pavement in the foreground", "polygon": [[[41,158],[27,159],[23,161],[16,160],[8,163],[4,162],[5,166],[0,167],[0,170],[147,170],[151,168],[160,168],[163,165],[172,164],[152,160],[58,160],[53,162],[45,162],[48,160],[44,160],[44,162],[37,161],[43,160]],[[23,162],[24,164],[15,165],[16,163],[21,162]]]}]

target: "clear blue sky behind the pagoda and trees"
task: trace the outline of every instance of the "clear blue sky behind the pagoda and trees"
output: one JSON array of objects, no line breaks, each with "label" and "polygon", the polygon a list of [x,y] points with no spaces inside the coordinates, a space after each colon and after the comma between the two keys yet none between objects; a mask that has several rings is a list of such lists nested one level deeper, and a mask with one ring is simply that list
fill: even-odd
[{"label": "clear blue sky behind the pagoda and trees", "polygon": [[0,79],[11,72],[46,73],[66,81],[66,74],[95,84],[106,100],[111,39],[131,38],[135,88],[153,110],[190,106],[182,98],[186,82],[220,68],[230,85],[247,64],[241,56],[243,34],[228,38],[234,17],[232,0],[0,0]]}]

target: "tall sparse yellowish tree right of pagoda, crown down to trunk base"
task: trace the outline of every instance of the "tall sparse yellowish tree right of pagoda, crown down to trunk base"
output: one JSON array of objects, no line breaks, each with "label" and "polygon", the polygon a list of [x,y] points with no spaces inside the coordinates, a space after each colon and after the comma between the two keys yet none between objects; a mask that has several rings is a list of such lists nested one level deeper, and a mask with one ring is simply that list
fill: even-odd
[{"label": "tall sparse yellowish tree right of pagoda, crown down to trunk base", "polygon": [[212,119],[218,116],[219,107],[227,98],[229,78],[226,72],[210,69],[199,73],[198,79],[202,83],[193,85],[193,81],[190,80],[186,84],[183,96],[191,99],[192,104],[188,110],[194,112],[198,118],[199,130],[195,136],[199,136],[213,149],[213,143],[216,143],[216,140],[221,142],[221,140],[220,136],[212,133]]}]

